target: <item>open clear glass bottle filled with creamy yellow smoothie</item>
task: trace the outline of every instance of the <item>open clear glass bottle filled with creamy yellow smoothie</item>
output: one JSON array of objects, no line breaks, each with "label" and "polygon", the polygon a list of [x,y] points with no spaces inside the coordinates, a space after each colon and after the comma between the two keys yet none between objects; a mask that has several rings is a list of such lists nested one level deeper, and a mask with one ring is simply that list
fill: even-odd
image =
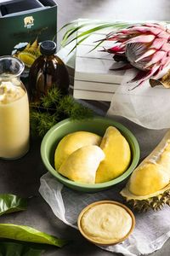
[{"label": "open clear glass bottle filled with creamy yellow smoothie", "polygon": [[24,64],[0,57],[0,158],[18,159],[29,149],[29,102],[20,74]]}]

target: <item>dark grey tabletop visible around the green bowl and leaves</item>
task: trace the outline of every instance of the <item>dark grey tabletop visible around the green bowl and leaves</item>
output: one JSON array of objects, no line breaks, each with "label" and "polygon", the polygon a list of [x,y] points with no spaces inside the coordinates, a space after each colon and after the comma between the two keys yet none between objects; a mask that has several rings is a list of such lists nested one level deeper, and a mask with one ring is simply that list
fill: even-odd
[{"label": "dark grey tabletop visible around the green bowl and leaves", "polygon": [[[166,131],[146,130],[139,125],[134,125],[132,122],[121,117],[113,117],[116,121],[126,125],[128,129],[133,131],[133,134],[139,141],[141,149],[141,157],[155,148],[156,143],[161,140],[161,137]],[[2,216],[1,223],[25,224],[47,232],[54,236],[59,236],[71,240],[71,243],[61,249],[48,247],[47,256],[72,256],[72,255],[94,255],[94,256],[109,256],[117,255],[101,250],[99,247],[90,244],[86,241],[77,230],[71,229],[63,224],[43,201],[41,195],[38,194],[40,185],[40,177],[47,172],[42,165],[40,156],[41,140],[31,140],[31,148],[28,154],[20,160],[0,160],[0,194],[11,193],[24,197],[32,196],[29,201],[28,209],[25,212],[15,212]],[[169,256],[170,241],[156,253],[150,254],[155,256]],[[12,256],[12,255],[11,255]]]}]

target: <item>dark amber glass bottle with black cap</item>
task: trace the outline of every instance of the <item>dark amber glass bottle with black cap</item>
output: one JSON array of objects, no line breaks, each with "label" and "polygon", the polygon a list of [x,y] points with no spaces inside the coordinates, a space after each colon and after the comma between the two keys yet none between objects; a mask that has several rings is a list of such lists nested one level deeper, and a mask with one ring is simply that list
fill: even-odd
[{"label": "dark amber glass bottle with black cap", "polygon": [[40,55],[31,66],[29,73],[29,95],[31,102],[39,102],[52,86],[56,86],[61,95],[69,93],[69,74],[65,63],[59,59],[54,41],[43,41]]}]

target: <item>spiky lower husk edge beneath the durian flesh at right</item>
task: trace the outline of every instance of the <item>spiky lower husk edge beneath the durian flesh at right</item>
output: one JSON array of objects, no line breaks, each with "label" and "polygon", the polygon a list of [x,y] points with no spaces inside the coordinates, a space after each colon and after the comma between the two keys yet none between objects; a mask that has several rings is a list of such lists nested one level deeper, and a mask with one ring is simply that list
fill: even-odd
[{"label": "spiky lower husk edge beneath the durian flesh at right", "polygon": [[121,195],[127,203],[138,212],[147,212],[150,209],[154,211],[161,210],[166,204],[170,207],[170,183],[164,188],[151,195],[136,196],[133,195],[127,186],[122,189]]}]

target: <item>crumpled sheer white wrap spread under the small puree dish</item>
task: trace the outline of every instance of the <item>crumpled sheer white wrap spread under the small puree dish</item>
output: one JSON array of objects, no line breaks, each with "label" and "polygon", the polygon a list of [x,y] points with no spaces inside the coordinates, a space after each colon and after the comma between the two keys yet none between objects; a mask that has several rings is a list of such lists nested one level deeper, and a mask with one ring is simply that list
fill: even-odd
[{"label": "crumpled sheer white wrap spread under the small puree dish", "polygon": [[[119,192],[123,186],[121,183],[109,190],[86,194],[66,188],[50,173],[46,173],[41,177],[39,192],[56,217],[77,229],[77,217],[84,207],[101,200],[122,202]],[[155,252],[170,237],[170,207],[164,207],[159,212],[135,213],[135,218],[135,229],[126,241],[102,248],[125,256],[137,256]]]}]

